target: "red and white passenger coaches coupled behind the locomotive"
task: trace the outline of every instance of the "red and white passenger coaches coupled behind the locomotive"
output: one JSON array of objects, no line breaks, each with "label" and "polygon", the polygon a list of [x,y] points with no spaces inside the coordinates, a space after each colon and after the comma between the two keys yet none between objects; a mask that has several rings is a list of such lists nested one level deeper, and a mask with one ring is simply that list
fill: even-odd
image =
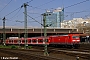
[{"label": "red and white passenger coaches coupled behind the locomotive", "polygon": [[27,38],[25,41],[25,38],[18,38],[18,39],[6,39],[6,44],[25,44],[28,45],[43,45],[43,44],[49,44],[48,38],[46,37],[47,43],[45,43],[44,37],[31,37]]}]

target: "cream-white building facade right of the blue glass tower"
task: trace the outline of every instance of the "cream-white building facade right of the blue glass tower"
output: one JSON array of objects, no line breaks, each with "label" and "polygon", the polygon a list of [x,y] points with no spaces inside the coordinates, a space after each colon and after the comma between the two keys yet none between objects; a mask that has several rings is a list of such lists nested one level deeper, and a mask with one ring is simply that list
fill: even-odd
[{"label": "cream-white building facade right of the blue glass tower", "polygon": [[61,23],[61,28],[76,28],[78,24],[81,25],[90,24],[90,19],[73,18],[72,20],[64,20]]}]

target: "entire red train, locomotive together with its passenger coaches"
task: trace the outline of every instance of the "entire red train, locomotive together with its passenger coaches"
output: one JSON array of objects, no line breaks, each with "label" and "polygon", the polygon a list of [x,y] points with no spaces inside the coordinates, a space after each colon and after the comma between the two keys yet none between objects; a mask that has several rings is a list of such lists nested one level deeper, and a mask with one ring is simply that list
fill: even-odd
[{"label": "entire red train, locomotive together with its passenger coaches", "polygon": [[[31,37],[26,39],[28,45],[63,45],[69,47],[79,47],[80,38],[78,34],[68,35],[53,35],[46,37],[47,43],[45,43],[44,37]],[[25,44],[24,38],[7,39],[6,44]]]}]

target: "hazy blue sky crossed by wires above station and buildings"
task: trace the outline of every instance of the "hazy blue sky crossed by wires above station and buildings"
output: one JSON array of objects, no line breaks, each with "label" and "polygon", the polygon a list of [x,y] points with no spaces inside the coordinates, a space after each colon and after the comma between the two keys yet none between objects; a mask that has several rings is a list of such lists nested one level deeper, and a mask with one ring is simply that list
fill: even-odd
[{"label": "hazy blue sky crossed by wires above station and buildings", "polygon": [[64,8],[64,20],[90,17],[89,0],[0,0],[0,26],[3,26],[2,19],[5,17],[6,26],[24,27],[24,7],[21,8],[24,3],[29,5],[27,6],[28,27],[40,27],[41,14],[58,7]]}]

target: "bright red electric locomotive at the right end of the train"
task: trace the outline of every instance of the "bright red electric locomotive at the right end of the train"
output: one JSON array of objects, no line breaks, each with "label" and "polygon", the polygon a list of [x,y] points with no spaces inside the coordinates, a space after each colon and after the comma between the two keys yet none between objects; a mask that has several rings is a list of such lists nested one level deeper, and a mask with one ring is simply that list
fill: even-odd
[{"label": "bright red electric locomotive at the right end of the train", "polygon": [[62,45],[66,47],[79,47],[80,38],[78,34],[54,35],[49,37],[50,45]]}]

